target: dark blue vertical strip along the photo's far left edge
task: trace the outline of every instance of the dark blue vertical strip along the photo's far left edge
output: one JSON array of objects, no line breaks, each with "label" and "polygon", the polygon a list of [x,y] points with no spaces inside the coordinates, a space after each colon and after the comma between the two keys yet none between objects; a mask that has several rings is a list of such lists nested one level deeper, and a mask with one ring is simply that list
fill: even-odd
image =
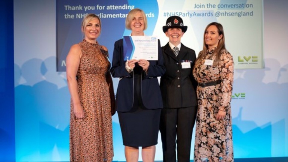
[{"label": "dark blue vertical strip along the photo's far left edge", "polygon": [[15,161],[13,1],[1,1],[0,24],[0,161]]}]

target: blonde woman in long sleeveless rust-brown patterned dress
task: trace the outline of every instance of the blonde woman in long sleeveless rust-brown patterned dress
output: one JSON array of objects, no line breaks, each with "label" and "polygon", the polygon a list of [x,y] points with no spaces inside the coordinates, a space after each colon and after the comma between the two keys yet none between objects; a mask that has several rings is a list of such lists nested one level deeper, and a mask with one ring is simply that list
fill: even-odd
[{"label": "blonde woman in long sleeveless rust-brown patterned dress", "polygon": [[84,39],[71,46],[66,58],[71,95],[70,161],[111,162],[113,158],[112,117],[107,80],[110,61],[105,46],[96,39],[101,21],[88,14],[82,21]]}]

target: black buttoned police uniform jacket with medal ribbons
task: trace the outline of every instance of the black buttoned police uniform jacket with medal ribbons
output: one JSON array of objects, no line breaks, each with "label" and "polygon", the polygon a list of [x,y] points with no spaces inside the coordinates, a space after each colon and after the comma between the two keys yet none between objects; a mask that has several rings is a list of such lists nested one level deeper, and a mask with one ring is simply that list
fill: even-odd
[{"label": "black buttoned police uniform jacket with medal ribbons", "polygon": [[[196,86],[192,70],[196,54],[193,49],[184,46],[178,56],[173,53],[169,43],[162,47],[166,72],[161,77],[160,89],[165,108],[197,106]],[[191,61],[190,68],[182,69],[182,61]]]}]

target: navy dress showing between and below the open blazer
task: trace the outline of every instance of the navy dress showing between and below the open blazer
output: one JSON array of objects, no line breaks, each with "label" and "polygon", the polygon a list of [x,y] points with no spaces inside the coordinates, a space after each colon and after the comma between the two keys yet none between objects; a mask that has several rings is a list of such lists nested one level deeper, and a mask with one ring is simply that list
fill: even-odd
[{"label": "navy dress showing between and below the open blazer", "polygon": [[117,112],[123,144],[130,147],[148,147],[158,143],[161,109],[147,109],[141,98],[142,69],[134,68],[134,105],[129,112]]}]

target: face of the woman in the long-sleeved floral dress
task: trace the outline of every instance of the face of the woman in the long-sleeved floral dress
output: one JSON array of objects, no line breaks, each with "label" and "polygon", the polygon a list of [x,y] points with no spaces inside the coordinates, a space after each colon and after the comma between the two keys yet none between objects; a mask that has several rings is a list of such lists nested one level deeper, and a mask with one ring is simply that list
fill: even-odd
[{"label": "face of the woman in the long-sleeved floral dress", "polygon": [[208,46],[208,49],[214,48],[218,46],[219,40],[223,37],[223,35],[219,35],[218,29],[216,26],[211,25],[205,31],[204,39],[205,44]]}]

